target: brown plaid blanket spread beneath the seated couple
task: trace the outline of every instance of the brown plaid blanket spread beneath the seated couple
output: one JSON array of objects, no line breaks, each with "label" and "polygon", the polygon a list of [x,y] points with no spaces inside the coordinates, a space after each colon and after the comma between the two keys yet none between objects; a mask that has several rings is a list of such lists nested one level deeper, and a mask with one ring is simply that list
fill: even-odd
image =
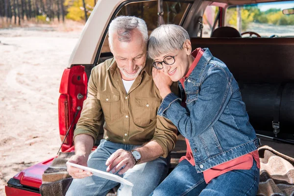
[{"label": "brown plaid blanket spread beneath the seated couple", "polygon": [[[294,158],[268,146],[258,149],[260,157],[260,182],[257,196],[294,196]],[[66,170],[66,162],[74,152],[60,152],[44,172],[41,196],[65,196],[73,178]],[[118,187],[107,196],[116,196]]]}]

